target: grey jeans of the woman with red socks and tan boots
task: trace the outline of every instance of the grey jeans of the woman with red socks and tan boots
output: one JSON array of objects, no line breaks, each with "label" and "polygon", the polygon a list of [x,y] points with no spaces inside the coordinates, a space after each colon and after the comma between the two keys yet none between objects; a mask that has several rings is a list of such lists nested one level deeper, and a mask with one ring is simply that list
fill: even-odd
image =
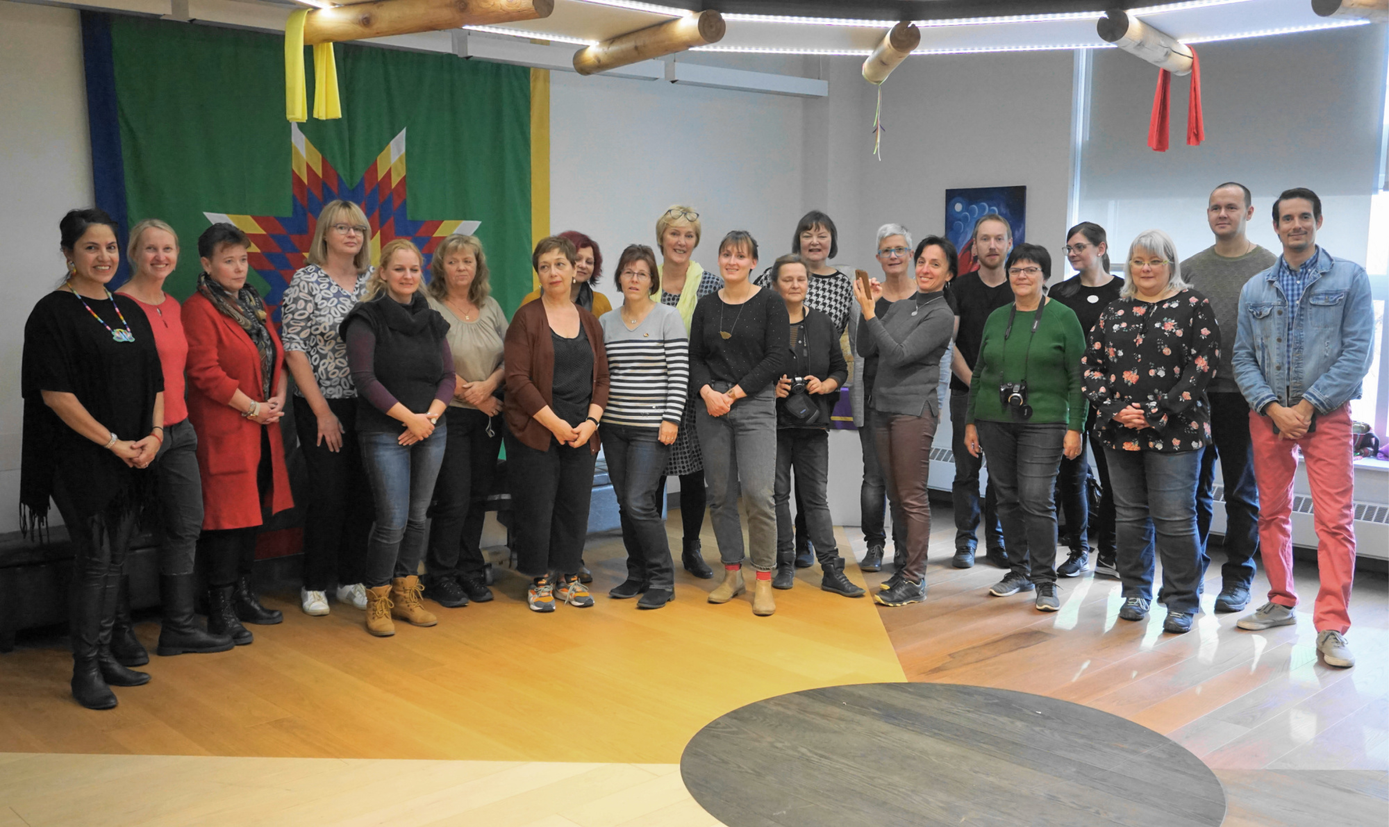
[{"label": "grey jeans of the woman with red socks and tan boots", "polygon": [[743,525],[738,495],[747,506],[747,540],[753,568],[776,568],[776,398],[772,389],[733,402],[722,416],[710,416],[704,401],[694,402],[694,426],[704,454],[708,511],[724,565],[743,562]]}]

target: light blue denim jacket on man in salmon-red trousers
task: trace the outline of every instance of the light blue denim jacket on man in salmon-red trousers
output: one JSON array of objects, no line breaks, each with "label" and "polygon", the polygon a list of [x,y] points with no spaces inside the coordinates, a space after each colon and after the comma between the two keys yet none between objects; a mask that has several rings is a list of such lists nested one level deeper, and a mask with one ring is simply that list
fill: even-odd
[{"label": "light blue denim jacket on man in salmon-red trousers", "polygon": [[1328,414],[1360,397],[1360,380],[1370,370],[1375,326],[1370,276],[1358,264],[1318,248],[1315,276],[1303,290],[1293,327],[1276,271],[1274,265],[1258,273],[1239,294],[1235,382],[1254,411],[1306,398]]}]

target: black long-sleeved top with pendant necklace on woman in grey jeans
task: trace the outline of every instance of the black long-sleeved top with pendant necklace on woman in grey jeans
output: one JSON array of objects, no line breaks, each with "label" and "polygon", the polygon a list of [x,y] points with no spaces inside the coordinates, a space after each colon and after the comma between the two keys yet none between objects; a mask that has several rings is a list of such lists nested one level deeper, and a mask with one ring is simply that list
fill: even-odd
[{"label": "black long-sleeved top with pendant necklace on woman in grey jeans", "polygon": [[690,319],[690,395],[715,383],[724,386],[715,390],[736,384],[747,395],[768,389],[785,373],[789,339],[786,304],[767,287],[743,304],[726,304],[718,293],[700,298]]}]

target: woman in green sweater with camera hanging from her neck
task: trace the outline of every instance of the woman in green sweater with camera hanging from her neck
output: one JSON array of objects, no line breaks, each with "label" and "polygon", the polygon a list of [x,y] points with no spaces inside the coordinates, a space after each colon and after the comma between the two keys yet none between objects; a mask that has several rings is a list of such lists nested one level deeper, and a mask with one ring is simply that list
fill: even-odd
[{"label": "woman in green sweater with camera hanging from her neck", "polygon": [[[989,315],[970,382],[964,443],[989,457],[999,493],[1008,573],[989,590],[1007,597],[1036,588],[1036,608],[1061,608],[1056,587],[1053,491],[1061,457],[1083,450],[1086,401],[1081,390],[1085,332],[1075,312],[1051,301],[1045,284],[1051,255],[1018,244],[1007,262],[1013,304]],[[982,445],[981,445],[982,444]]]}]

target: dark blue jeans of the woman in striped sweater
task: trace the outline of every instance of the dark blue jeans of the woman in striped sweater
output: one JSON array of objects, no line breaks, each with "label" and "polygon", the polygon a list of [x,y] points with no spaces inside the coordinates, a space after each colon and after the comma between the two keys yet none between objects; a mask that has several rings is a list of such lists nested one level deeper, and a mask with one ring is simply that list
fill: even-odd
[{"label": "dark blue jeans of the woman in striped sweater", "polygon": [[657,427],[607,425],[603,432],[603,457],[617,494],[622,519],[622,545],[626,547],[626,576],[644,580],[651,588],[675,588],[675,563],[671,541],[665,536],[657,486],[665,479],[669,445],[657,438]]}]

